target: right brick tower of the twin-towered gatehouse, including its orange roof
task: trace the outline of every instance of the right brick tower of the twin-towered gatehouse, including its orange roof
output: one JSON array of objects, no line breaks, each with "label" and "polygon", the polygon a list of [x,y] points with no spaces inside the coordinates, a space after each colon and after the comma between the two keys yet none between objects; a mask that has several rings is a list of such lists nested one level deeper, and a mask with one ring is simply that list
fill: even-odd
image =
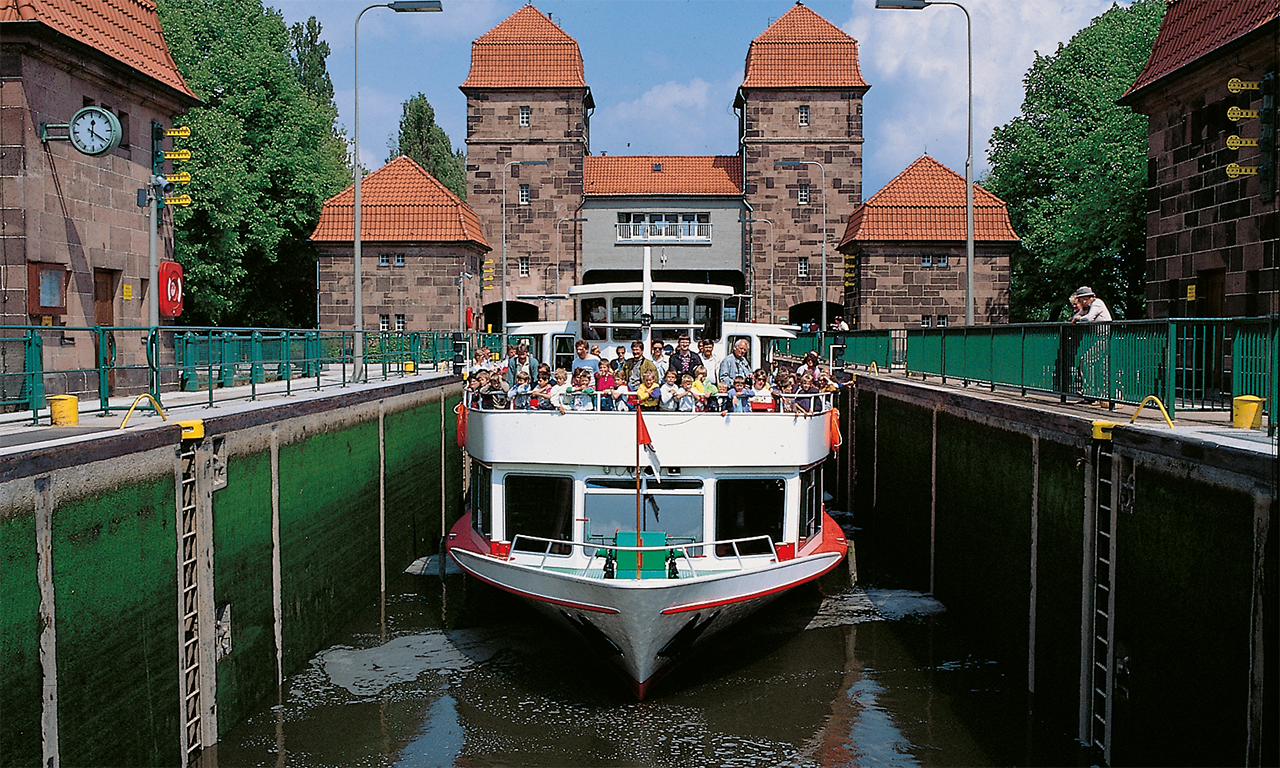
[{"label": "right brick tower of the twin-towered gatehouse, including its orange roof", "polygon": [[[844,259],[836,244],[849,211],[863,201],[863,95],[869,87],[858,67],[858,41],[800,3],[746,51],[733,101],[744,196],[751,218],[772,221],[777,250],[769,252],[765,225],[749,225],[754,320],[820,320],[823,238],[828,320],[844,312]],[[822,168],[776,166],[778,160]]]}]

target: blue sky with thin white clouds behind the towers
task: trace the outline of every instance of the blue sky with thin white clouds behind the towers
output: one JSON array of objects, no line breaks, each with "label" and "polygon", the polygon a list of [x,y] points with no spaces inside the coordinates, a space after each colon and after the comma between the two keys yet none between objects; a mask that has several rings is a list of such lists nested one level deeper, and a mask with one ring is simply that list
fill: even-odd
[{"label": "blue sky with thin white clouds behind the towers", "polygon": [[[339,122],[351,136],[352,26],[367,3],[266,0],[287,23],[315,15],[332,49]],[[387,159],[403,101],[435,108],[454,146],[466,140],[458,84],[471,41],[515,13],[513,0],[443,0],[444,13],[374,9],[360,22],[360,143],[370,169]],[[535,4],[579,41],[595,97],[591,152],[736,152],[733,93],[751,40],[786,13],[787,0],[541,0]],[[940,5],[876,10],[874,0],[812,0],[810,9],[859,44],[863,78],[864,198],[922,154],[964,173],[965,17]],[[987,168],[991,131],[1016,116],[1036,51],[1051,54],[1110,0],[964,0],[973,15],[975,177]]]}]

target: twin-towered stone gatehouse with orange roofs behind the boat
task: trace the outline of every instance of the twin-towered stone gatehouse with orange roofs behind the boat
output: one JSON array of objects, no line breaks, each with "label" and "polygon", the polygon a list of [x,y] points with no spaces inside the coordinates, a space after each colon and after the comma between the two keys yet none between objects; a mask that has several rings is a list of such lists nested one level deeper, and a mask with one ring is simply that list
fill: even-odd
[{"label": "twin-towered stone gatehouse with orange roofs behind the boat", "polygon": [[[577,42],[521,6],[474,42],[461,86],[467,200],[489,242],[506,238],[508,319],[538,319],[535,297],[567,285],[639,274],[639,253],[627,262],[637,234],[682,279],[731,285],[736,311],[755,320],[815,321],[826,251],[828,315],[841,314],[833,234],[861,202],[868,87],[854,38],[796,3],[748,47],[733,102],[739,155],[591,156],[594,100]],[[497,293],[485,296],[495,325]],[[541,303],[545,317],[563,302]]]}]

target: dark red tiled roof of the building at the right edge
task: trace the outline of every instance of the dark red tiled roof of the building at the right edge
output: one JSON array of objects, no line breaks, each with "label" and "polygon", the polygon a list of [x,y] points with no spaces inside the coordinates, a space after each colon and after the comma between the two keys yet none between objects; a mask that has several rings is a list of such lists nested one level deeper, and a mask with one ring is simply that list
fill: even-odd
[{"label": "dark red tiled roof of the building at the right edge", "polygon": [[1147,67],[1121,99],[1274,22],[1276,0],[1169,0]]}]

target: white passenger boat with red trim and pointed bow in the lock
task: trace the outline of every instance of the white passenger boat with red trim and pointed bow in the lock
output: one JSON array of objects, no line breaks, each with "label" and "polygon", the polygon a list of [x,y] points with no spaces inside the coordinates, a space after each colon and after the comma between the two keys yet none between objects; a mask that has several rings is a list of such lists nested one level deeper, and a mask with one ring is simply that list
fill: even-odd
[{"label": "white passenger boat with red trim and pointed bow in the lock", "polygon": [[[512,333],[552,360],[584,333],[603,335],[602,346],[639,338],[646,349],[648,337],[709,334],[718,356],[745,338],[753,367],[767,364],[773,338],[794,335],[723,320],[728,288],[654,283],[648,248],[643,275],[572,288],[579,317],[595,323]],[[470,504],[448,553],[580,635],[644,699],[696,644],[844,559],[845,535],[823,506],[822,465],[838,439],[829,406],[728,415],[465,407]]]}]

